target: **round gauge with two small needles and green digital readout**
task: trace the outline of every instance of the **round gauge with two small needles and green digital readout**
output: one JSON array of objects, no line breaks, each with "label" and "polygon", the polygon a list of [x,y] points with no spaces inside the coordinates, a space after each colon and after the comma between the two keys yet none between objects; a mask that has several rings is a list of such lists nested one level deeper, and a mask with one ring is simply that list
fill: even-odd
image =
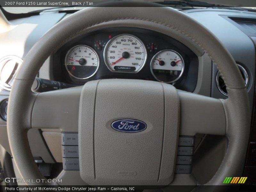
[{"label": "round gauge with two small needles and green digital readout", "polygon": [[178,52],[162,50],[152,58],[150,69],[157,81],[173,83],[182,76],[184,61]]}]

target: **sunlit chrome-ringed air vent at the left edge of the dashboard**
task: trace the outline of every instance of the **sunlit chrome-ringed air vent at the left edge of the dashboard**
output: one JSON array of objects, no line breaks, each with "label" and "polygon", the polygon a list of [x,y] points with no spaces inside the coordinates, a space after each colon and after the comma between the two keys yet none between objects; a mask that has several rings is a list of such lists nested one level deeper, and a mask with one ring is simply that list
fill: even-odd
[{"label": "sunlit chrome-ringed air vent at the left edge of the dashboard", "polygon": [[0,60],[0,87],[11,91],[12,84],[22,59],[17,56],[6,56]]}]

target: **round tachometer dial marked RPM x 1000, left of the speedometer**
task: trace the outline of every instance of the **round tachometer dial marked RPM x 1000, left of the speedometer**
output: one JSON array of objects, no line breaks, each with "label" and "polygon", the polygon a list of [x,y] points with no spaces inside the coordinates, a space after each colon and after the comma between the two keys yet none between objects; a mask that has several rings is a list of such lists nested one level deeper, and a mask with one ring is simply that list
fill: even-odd
[{"label": "round tachometer dial marked RPM x 1000, left of the speedometer", "polygon": [[76,79],[92,77],[99,68],[98,54],[87,45],[72,47],[65,58],[68,73]]}]

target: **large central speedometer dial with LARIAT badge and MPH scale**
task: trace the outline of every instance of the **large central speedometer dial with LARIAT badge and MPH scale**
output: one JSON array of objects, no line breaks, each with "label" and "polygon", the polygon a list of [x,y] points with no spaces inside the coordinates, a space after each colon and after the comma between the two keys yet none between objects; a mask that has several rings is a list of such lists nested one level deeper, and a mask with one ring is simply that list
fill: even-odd
[{"label": "large central speedometer dial with LARIAT badge and MPH scale", "polygon": [[122,34],[110,39],[104,49],[104,60],[112,72],[138,73],[147,59],[142,41],[133,35]]}]

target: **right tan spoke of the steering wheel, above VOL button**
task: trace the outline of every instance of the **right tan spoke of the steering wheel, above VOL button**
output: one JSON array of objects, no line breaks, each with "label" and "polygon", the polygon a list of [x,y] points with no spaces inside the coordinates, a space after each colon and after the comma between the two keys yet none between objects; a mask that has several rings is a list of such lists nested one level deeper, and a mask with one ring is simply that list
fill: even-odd
[{"label": "right tan spoke of the steering wheel, above VOL button", "polygon": [[178,91],[180,97],[180,135],[196,133],[225,135],[226,116],[221,100]]}]

